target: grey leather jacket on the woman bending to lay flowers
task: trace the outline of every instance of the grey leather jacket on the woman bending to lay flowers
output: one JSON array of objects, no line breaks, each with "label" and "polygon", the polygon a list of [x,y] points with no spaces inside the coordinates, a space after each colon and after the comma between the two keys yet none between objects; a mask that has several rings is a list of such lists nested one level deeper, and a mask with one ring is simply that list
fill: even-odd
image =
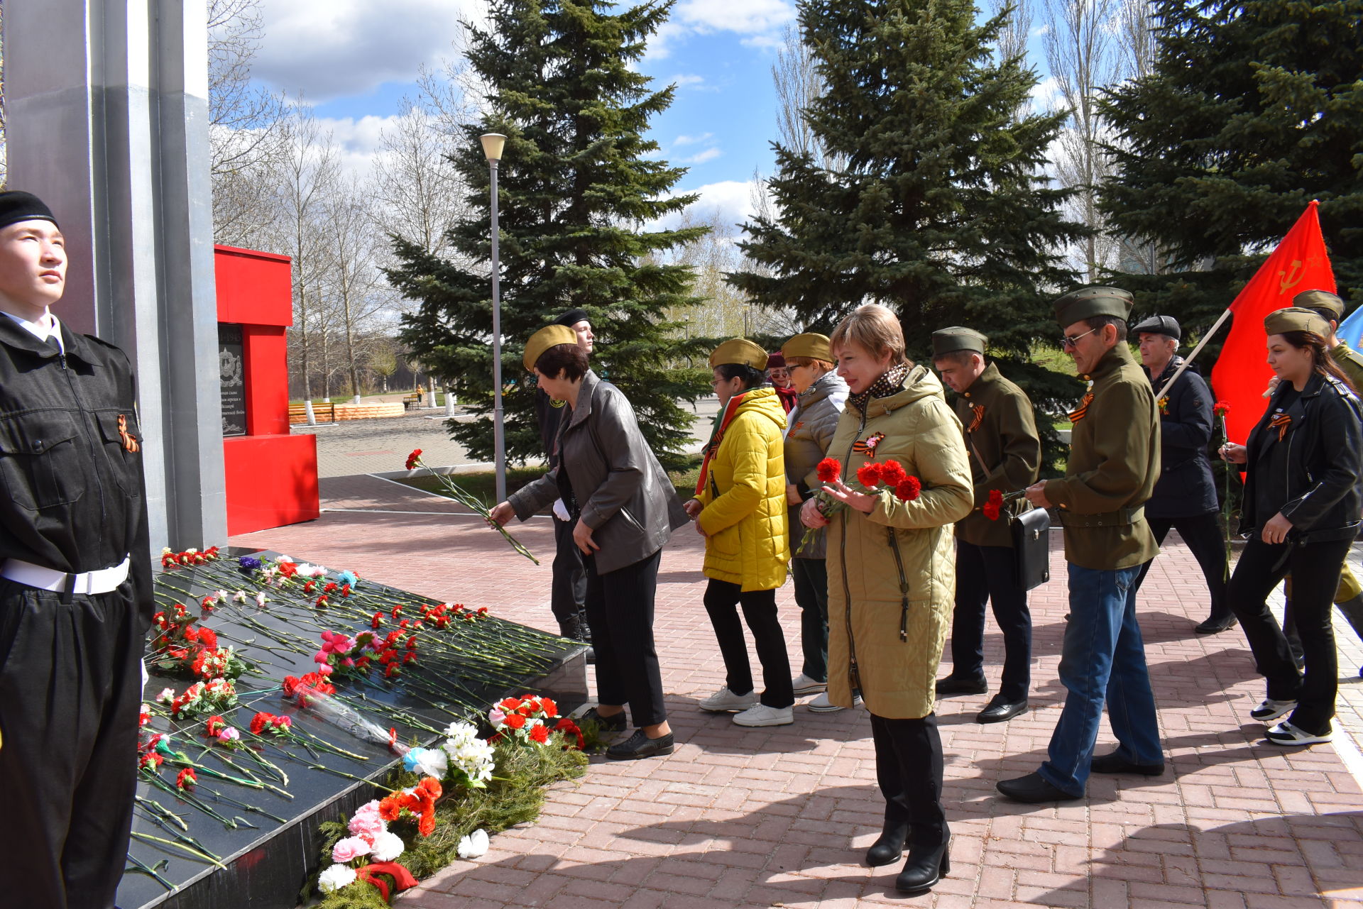
[{"label": "grey leather jacket on the woman bending to lay flowers", "polygon": [[[570,416],[571,414],[571,416]],[[624,568],[662,548],[690,518],[672,482],[639,432],[634,407],[609,382],[587,371],[578,406],[564,414],[557,437],[559,466],[507,496],[525,521],[555,499],[577,500],[592,527],[597,574]],[[567,472],[560,477],[560,472]]]}]

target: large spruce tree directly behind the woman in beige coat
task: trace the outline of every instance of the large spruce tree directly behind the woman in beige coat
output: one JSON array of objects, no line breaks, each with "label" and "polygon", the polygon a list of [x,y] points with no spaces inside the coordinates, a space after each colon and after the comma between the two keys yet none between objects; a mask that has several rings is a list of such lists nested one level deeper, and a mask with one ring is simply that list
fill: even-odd
[{"label": "large spruce tree directly behind the woman in beige coat", "polygon": [[1071,191],[1041,173],[1063,112],[1021,113],[1036,75],[991,55],[1011,10],[983,25],[969,0],[799,11],[823,82],[806,116],[833,164],[773,143],[777,214],[744,225],[743,244],[765,268],[731,281],[810,330],[885,304],[916,360],[936,328],[973,327],[1037,406],[1067,409],[1078,384],[1032,352],[1059,337],[1050,300],[1077,281],[1056,251],[1088,234],[1062,211]]}]

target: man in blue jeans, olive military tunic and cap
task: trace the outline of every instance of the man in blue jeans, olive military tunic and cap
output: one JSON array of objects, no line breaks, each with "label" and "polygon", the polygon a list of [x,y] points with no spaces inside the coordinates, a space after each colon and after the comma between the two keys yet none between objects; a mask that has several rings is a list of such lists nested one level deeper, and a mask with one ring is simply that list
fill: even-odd
[{"label": "man in blue jeans, olive military tunic and cap", "polygon": [[[1070,413],[1065,477],[1028,487],[1065,525],[1070,619],[1060,654],[1065,709],[1048,759],[1032,774],[1003,780],[1017,801],[1082,799],[1089,773],[1164,773],[1154,695],[1135,620],[1135,578],[1159,551],[1144,506],[1160,476],[1154,392],[1126,345],[1131,294],[1084,288],[1055,301],[1062,346],[1089,383]],[[1118,748],[1093,756],[1104,703]]]}]

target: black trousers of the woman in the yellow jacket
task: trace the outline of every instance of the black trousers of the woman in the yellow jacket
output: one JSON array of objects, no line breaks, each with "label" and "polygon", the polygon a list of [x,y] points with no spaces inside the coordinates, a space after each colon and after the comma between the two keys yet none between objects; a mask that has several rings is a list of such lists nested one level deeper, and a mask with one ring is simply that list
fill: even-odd
[{"label": "black trousers of the woman in the yellow jacket", "polygon": [[752,665],[748,662],[748,646],[743,641],[743,619],[752,631],[758,661],[762,662],[762,703],[769,707],[789,707],[795,705],[795,688],[791,681],[791,657],[785,653],[785,632],[776,617],[776,590],[748,590],[728,581],[716,581],[705,589],[705,611],[710,613],[714,636],[724,656],[724,669],[728,688],[736,695],[752,691]]}]

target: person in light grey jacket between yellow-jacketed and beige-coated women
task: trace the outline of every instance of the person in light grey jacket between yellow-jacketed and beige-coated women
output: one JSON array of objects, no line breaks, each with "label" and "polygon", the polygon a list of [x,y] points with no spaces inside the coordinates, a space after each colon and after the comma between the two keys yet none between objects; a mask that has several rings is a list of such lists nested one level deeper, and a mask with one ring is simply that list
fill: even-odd
[{"label": "person in light grey jacket between yellow-jacketed and beige-coated women", "polygon": [[833,371],[833,353],[827,335],[797,334],[781,346],[791,382],[799,392],[785,433],[786,502],[791,504],[791,574],[795,575],[795,601],[800,605],[800,649],[804,665],[792,685],[795,695],[819,696],[810,710],[841,710],[829,702],[829,572],[823,564],[827,531],[819,529],[814,540],[800,546],[795,534],[803,531],[800,506],[823,484],[815,467],[829,451],[838,414],[846,402],[848,384]]}]

